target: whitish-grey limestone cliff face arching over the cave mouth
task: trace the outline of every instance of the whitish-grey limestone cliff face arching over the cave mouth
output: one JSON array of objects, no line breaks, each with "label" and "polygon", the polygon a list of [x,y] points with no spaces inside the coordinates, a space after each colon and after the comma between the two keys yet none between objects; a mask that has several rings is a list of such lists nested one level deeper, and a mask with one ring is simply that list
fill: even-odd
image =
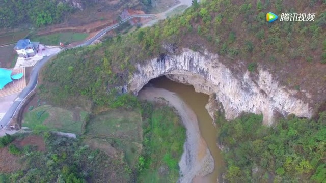
[{"label": "whitish-grey limestone cliff face arching over the cave mouth", "polygon": [[[193,85],[196,92],[214,96],[222,103],[228,120],[241,112],[263,114],[266,125],[273,123],[277,112],[283,116],[290,113],[312,116],[309,105],[293,97],[291,91],[281,87],[268,71],[258,69],[256,79],[249,77],[249,71],[239,77],[219,62],[218,55],[209,52],[183,49],[179,55],[152,59],[147,64],[137,65],[137,69],[128,83],[128,91],[134,95],[149,80],[167,75],[177,82]],[[213,111],[209,112],[213,114]]]}]

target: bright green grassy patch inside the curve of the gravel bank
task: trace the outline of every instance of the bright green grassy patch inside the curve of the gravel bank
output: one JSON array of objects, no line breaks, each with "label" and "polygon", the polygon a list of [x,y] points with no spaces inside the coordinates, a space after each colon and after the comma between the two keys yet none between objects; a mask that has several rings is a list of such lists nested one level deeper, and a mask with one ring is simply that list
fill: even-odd
[{"label": "bright green grassy patch inside the curve of the gravel bank", "polygon": [[[143,153],[140,158],[139,182],[176,182],[185,128],[172,108],[156,108],[144,126]],[[159,171],[163,169],[163,171]]]}]

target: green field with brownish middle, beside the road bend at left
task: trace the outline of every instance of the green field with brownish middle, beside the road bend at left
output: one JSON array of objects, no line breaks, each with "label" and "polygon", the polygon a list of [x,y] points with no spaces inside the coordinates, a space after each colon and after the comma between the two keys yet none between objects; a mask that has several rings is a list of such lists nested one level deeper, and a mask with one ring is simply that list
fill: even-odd
[{"label": "green field with brownish middle, beside the road bend at left", "polygon": [[[83,121],[87,112],[81,111],[80,120],[73,119],[73,112],[59,107],[44,105],[26,113],[22,126],[35,129],[38,126],[45,126],[62,132],[83,133]],[[78,114],[76,114],[78,115]]]}]

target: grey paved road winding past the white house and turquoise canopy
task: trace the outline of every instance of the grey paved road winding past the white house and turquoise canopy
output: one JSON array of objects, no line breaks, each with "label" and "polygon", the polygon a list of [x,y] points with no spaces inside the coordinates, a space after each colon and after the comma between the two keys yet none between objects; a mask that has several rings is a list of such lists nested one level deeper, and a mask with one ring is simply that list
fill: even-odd
[{"label": "grey paved road winding past the white house and turquoise canopy", "polygon": [[[121,20],[121,23],[134,18],[134,17],[155,17],[156,15],[151,15],[151,14],[147,14],[147,15],[132,15],[129,16],[123,20]],[[73,48],[76,47],[82,47],[82,46],[88,46],[90,44],[92,44],[95,40],[99,39],[100,37],[102,37],[106,32],[111,31],[112,29],[118,27],[119,24],[115,24],[112,26],[108,26],[106,28],[104,28],[101,32],[99,32],[97,35],[95,35],[93,38],[85,41],[83,44],[77,45]],[[58,52],[60,53],[60,52]],[[58,54],[57,53],[57,54]],[[38,73],[40,71],[40,69],[44,66],[44,64],[47,63],[47,61],[57,55],[57,54],[52,54],[48,57],[44,57],[43,59],[39,60],[39,62],[37,62],[37,64],[34,66],[31,76],[30,76],[30,82],[28,83],[28,85],[21,91],[21,93],[18,95],[18,98],[14,101],[14,103],[12,104],[12,106],[9,108],[9,110],[6,112],[6,114],[4,115],[4,117],[0,120],[0,125],[2,125],[4,128],[8,125],[9,121],[12,119],[13,115],[16,113],[16,110],[18,109],[19,105],[21,104],[21,102],[23,100],[25,100],[26,96],[28,96],[29,93],[31,93],[31,91],[36,87],[37,85],[37,80],[38,80]]]}]

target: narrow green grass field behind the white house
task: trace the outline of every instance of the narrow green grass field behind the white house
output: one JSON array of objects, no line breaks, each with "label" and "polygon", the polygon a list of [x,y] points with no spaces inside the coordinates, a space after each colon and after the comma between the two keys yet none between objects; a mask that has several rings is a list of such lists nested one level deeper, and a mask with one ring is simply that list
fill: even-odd
[{"label": "narrow green grass field behind the white house", "polygon": [[87,33],[74,33],[74,32],[65,32],[65,33],[55,33],[44,36],[32,36],[32,41],[39,41],[41,44],[45,45],[59,45],[60,42],[64,44],[78,42],[85,40],[89,34]]}]

